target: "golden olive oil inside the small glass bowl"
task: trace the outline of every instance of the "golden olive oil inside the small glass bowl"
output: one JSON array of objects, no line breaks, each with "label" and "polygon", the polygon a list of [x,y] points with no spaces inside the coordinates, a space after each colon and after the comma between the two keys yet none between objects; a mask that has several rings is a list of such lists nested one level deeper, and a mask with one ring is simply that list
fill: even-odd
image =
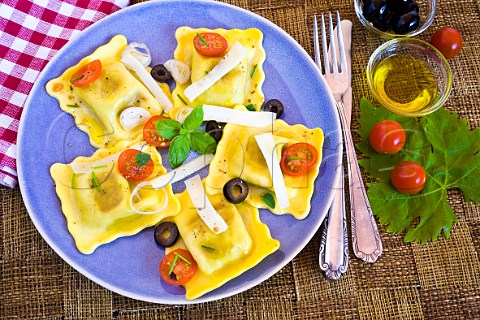
[{"label": "golden olive oil inside the small glass bowl", "polygon": [[425,62],[404,54],[388,57],[378,65],[373,86],[400,112],[421,112],[437,94],[435,77]]}]

